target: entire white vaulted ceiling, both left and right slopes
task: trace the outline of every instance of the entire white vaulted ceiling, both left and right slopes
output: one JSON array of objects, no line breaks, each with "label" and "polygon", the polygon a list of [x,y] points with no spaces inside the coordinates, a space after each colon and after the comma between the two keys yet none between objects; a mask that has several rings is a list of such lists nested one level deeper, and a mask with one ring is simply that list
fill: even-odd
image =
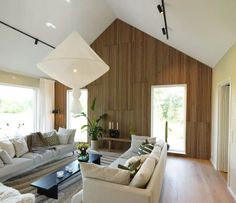
[{"label": "entire white vaulted ceiling, both left and right slopes", "polygon": [[[236,0],[165,0],[168,41],[156,9],[160,0],[70,1],[0,0],[0,20],[56,46],[74,30],[91,44],[119,18],[211,67],[236,41]],[[0,25],[0,69],[45,77],[36,64],[50,51]]]}]

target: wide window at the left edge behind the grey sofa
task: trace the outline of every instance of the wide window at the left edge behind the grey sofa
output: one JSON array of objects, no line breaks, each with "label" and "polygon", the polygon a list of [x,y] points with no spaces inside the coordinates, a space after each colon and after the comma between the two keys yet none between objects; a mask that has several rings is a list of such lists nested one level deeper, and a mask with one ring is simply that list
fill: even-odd
[{"label": "wide window at the left edge behind the grey sofa", "polygon": [[0,85],[0,137],[28,135],[36,130],[37,89]]}]

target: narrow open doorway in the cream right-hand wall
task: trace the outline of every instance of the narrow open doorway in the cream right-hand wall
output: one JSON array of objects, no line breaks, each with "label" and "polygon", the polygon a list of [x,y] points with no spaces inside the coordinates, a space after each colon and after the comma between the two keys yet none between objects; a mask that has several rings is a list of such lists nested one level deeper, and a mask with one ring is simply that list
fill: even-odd
[{"label": "narrow open doorway in the cream right-hand wall", "polygon": [[218,170],[228,182],[230,133],[230,82],[219,89]]}]

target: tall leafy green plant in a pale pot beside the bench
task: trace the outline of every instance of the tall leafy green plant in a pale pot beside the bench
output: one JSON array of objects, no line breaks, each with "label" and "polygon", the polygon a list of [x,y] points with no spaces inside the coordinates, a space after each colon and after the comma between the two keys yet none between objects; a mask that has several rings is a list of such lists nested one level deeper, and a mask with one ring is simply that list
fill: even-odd
[{"label": "tall leafy green plant in a pale pot beside the bench", "polygon": [[103,135],[103,128],[100,125],[102,119],[105,118],[106,114],[102,114],[99,117],[95,115],[96,110],[96,98],[94,98],[92,105],[90,107],[92,112],[92,118],[89,118],[84,112],[80,114],[80,116],[86,117],[88,120],[87,125],[83,125],[81,129],[86,129],[88,135],[91,137],[91,149],[97,150],[98,149],[98,138]]}]

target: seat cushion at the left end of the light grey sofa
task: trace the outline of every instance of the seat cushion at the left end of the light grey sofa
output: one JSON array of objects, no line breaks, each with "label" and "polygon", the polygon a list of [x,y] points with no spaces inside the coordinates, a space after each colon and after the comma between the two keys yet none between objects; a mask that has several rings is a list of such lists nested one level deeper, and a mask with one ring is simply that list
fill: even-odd
[{"label": "seat cushion at the left end of the light grey sofa", "polygon": [[3,168],[0,168],[0,177],[18,174],[19,171],[32,168],[34,165],[33,160],[25,158],[14,158],[12,159],[12,162],[12,164],[5,164]]}]

